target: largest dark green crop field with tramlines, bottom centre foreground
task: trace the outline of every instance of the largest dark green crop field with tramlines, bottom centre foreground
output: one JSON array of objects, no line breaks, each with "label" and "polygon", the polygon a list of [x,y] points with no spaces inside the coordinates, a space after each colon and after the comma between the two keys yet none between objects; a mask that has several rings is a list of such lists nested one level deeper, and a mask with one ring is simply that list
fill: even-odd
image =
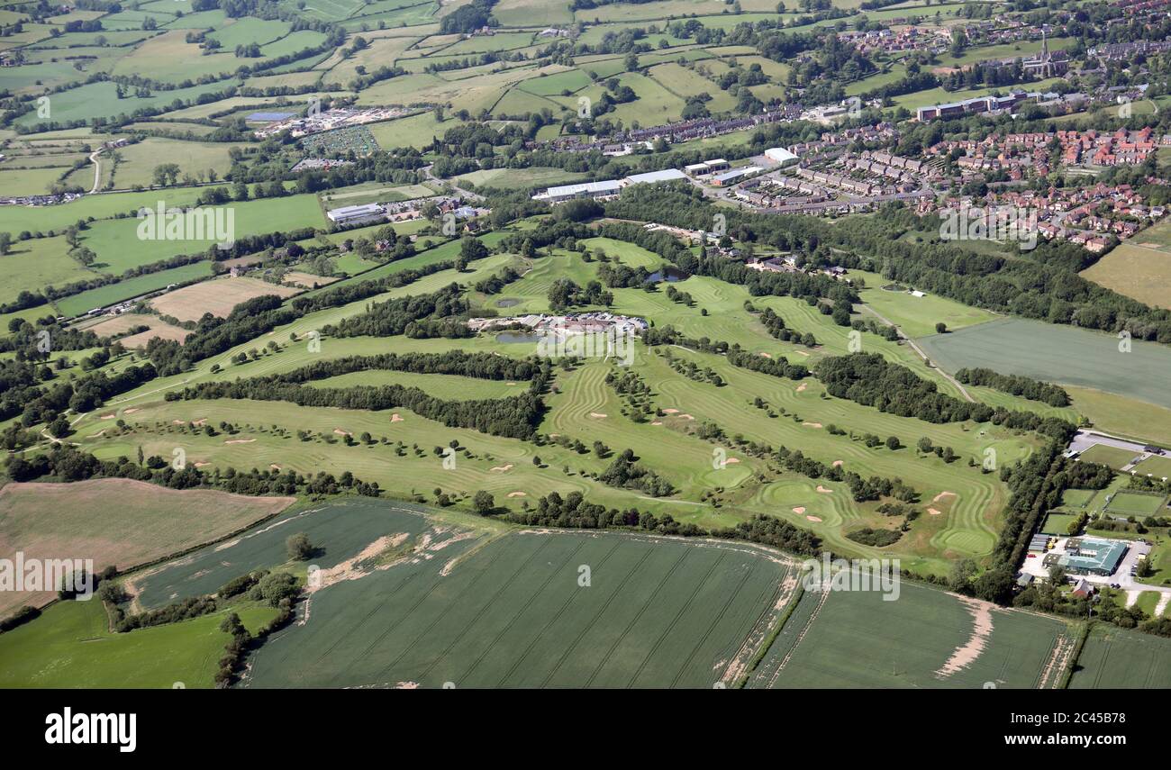
[{"label": "largest dark green crop field with tramlines, bottom centre foreground", "polygon": [[310,509],[146,578],[142,597],[150,606],[279,563],[295,529],[324,549],[327,577],[307,621],[255,654],[248,687],[711,687],[792,570],[739,543],[484,529],[418,511]]}]

